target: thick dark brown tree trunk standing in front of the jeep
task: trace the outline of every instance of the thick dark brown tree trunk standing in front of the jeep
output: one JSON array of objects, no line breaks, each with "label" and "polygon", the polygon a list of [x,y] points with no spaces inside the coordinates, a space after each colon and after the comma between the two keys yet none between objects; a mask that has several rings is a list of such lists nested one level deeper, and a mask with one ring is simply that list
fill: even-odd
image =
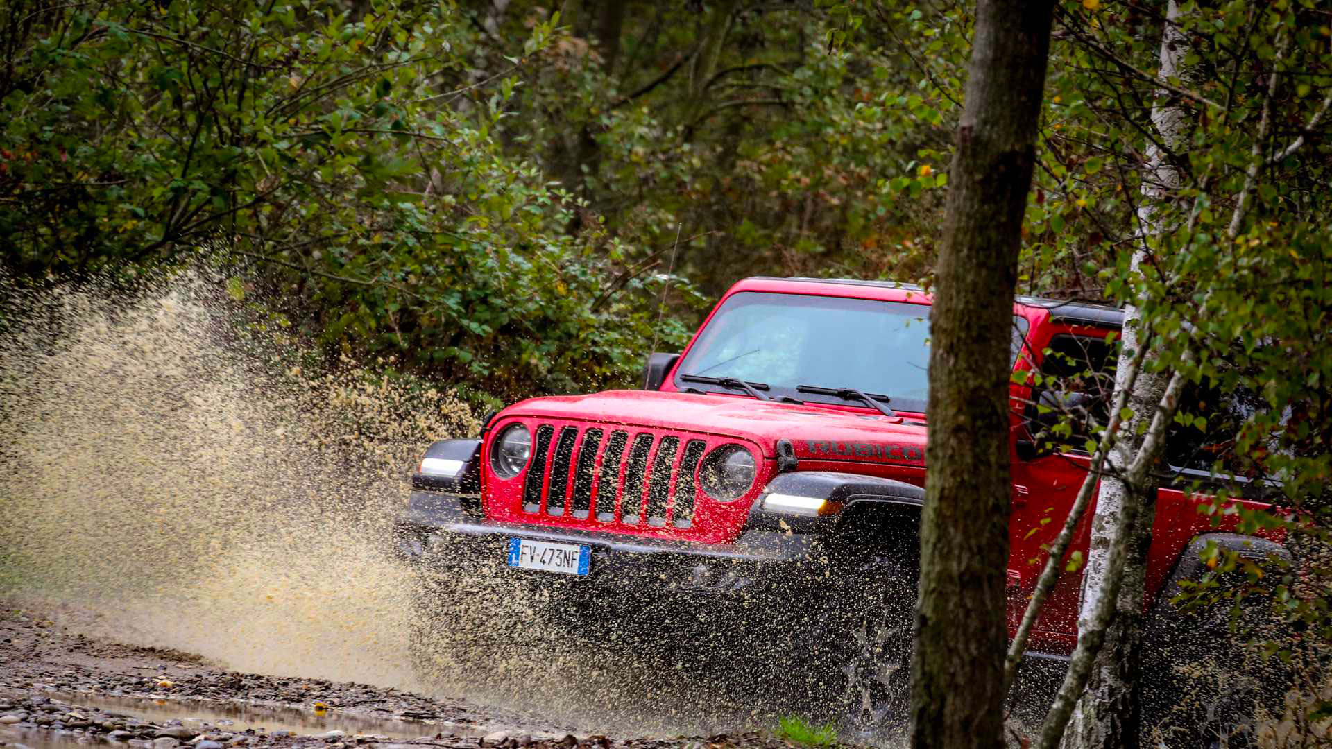
[{"label": "thick dark brown tree trunk standing in front of the jeep", "polygon": [[931,312],[911,676],[918,748],[1003,746],[1008,376],[1050,0],[980,0]]}]

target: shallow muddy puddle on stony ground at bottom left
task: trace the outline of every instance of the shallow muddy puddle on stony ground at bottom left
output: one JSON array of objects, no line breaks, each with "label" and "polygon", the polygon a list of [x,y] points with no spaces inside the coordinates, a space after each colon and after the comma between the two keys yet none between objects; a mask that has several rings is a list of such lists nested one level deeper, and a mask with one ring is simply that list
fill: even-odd
[{"label": "shallow muddy puddle on stony ground at bottom left", "polygon": [[[48,697],[52,705],[59,704],[67,716],[73,712],[95,721],[131,718],[159,726],[178,724],[198,734],[244,734],[257,738],[264,738],[265,734],[273,738],[316,736],[328,738],[338,736],[330,734],[330,732],[341,732],[348,737],[361,734],[386,740],[414,740],[438,733],[454,737],[481,736],[481,732],[473,726],[453,721],[376,720],[348,716],[337,710],[302,710],[240,701],[159,700],[73,693],[52,693]],[[52,730],[49,726],[29,728],[27,725],[0,725],[0,742],[23,744],[32,749],[73,744],[121,744],[99,736],[73,734],[59,729]]]}]

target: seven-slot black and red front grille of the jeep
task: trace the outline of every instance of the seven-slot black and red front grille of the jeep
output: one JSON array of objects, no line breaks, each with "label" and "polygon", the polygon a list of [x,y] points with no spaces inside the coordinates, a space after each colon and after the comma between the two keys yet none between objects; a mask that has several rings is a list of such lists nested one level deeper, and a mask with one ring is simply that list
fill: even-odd
[{"label": "seven-slot black and red front grille of the jeep", "polygon": [[626,525],[690,528],[707,442],[591,426],[537,426],[522,509]]}]

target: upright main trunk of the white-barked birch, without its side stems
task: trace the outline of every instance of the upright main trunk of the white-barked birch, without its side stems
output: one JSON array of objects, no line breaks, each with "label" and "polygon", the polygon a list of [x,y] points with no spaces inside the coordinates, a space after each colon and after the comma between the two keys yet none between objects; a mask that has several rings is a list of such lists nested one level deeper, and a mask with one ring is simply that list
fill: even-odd
[{"label": "upright main trunk of the white-barked birch, without its side stems", "polygon": [[[1179,31],[1179,5],[1169,0],[1166,9],[1166,24],[1162,28],[1160,79],[1168,81],[1177,77],[1188,51],[1188,41]],[[1166,149],[1177,151],[1185,145],[1189,112],[1179,100],[1164,99],[1152,109],[1152,124]],[[1142,187],[1142,205],[1138,209],[1138,231],[1142,241],[1134,252],[1131,271],[1140,273],[1148,259],[1148,241],[1169,231],[1160,204],[1177,195],[1181,187],[1179,169],[1171,161],[1171,153],[1155,143],[1147,148],[1147,167]],[[1139,305],[1124,307],[1123,348],[1119,355],[1119,369],[1115,389],[1123,390],[1130,371],[1130,360],[1140,345],[1142,315]],[[1124,437],[1115,445],[1111,465],[1123,470],[1143,449],[1143,428],[1152,421],[1156,405],[1166,392],[1166,374],[1144,371],[1138,374],[1128,396],[1128,408],[1134,414],[1124,424]],[[1139,717],[1142,705],[1138,694],[1138,674],[1140,670],[1143,646],[1143,600],[1146,589],[1147,550],[1152,542],[1152,521],[1156,518],[1156,482],[1150,477],[1143,485],[1131,486],[1118,474],[1106,476],[1096,497],[1096,514],[1091,526],[1091,548],[1087,554],[1087,573],[1083,577],[1083,605],[1079,628],[1091,625],[1090,617],[1096,608],[1096,600],[1106,589],[1106,569],[1111,540],[1119,530],[1118,518],[1122,508],[1130,501],[1128,493],[1142,502],[1138,521],[1130,530],[1128,558],[1124,562],[1124,580],[1119,586],[1115,616],[1106,632],[1104,646],[1096,657],[1087,690],[1078,702],[1068,728],[1066,745],[1076,749],[1135,749],[1139,744]]]}]

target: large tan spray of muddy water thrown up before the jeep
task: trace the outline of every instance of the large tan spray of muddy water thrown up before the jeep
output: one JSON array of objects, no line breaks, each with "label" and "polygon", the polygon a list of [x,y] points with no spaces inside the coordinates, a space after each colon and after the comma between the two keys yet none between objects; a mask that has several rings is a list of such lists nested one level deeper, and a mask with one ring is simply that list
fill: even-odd
[{"label": "large tan spray of muddy water thrown up before the jeep", "polygon": [[0,598],[71,604],[92,634],[237,670],[442,689],[587,729],[762,722],[763,685],[693,657],[505,636],[539,626],[545,592],[484,574],[428,622],[442,646],[422,681],[420,581],[390,553],[389,509],[422,446],[477,420],[364,369],[302,371],[281,325],[224,288],[0,283]]}]

